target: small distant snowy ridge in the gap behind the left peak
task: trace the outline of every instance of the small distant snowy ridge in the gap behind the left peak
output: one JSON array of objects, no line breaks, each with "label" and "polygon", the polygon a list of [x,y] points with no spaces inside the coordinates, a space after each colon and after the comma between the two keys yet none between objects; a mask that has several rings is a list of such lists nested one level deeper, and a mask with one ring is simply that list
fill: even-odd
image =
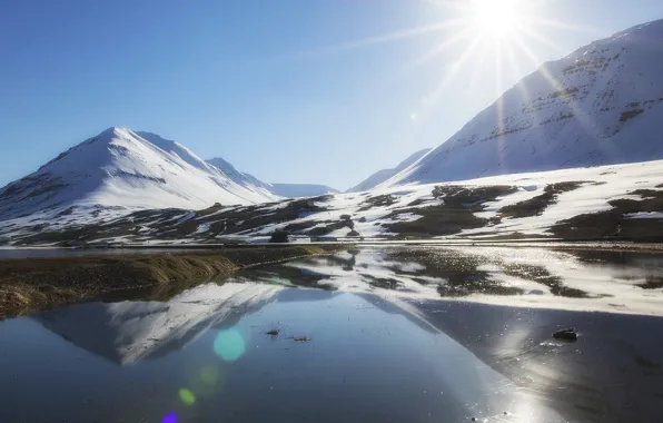
[{"label": "small distant snowy ridge in the gap behind the left peak", "polygon": [[236,184],[244,186],[248,189],[261,189],[268,195],[274,195],[285,198],[298,198],[298,197],[316,197],[325,194],[336,194],[339,190],[327,187],[325,185],[316,184],[267,184],[256,178],[253,175],[245,174],[235,168],[228,161],[220,157],[216,157],[207,160],[208,164],[216,166],[224,174],[226,174]]}]

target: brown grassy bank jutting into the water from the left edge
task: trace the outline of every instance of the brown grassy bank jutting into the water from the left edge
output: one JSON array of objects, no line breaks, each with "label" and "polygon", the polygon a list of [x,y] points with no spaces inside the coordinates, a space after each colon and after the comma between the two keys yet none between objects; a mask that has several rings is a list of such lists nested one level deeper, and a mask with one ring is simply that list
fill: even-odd
[{"label": "brown grassy bank jutting into the water from the left edge", "polygon": [[[119,291],[178,291],[245,268],[325,255],[347,244],[0,259],[0,319]],[[181,247],[180,247],[181,248]],[[182,248],[184,249],[184,248]]]}]

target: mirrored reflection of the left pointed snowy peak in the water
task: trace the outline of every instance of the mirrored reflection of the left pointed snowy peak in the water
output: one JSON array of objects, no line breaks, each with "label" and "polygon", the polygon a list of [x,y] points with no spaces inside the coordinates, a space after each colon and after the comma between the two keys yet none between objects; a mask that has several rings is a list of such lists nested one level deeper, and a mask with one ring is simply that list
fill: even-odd
[{"label": "mirrored reflection of the left pointed snowy peak in the water", "polygon": [[129,364],[180,350],[209,327],[231,326],[279,291],[277,285],[208,284],[167,303],[77,304],[32,318],[81,348]]}]

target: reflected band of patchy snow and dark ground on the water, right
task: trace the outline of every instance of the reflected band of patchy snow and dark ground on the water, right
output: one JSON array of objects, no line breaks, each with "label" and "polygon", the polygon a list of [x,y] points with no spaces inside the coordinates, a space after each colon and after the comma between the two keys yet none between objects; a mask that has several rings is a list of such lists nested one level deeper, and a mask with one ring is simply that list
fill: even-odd
[{"label": "reflected band of patchy snow and dark ground on the water, right", "polygon": [[309,257],[261,272],[280,284],[357,294],[661,315],[661,256],[643,253],[409,246]]}]

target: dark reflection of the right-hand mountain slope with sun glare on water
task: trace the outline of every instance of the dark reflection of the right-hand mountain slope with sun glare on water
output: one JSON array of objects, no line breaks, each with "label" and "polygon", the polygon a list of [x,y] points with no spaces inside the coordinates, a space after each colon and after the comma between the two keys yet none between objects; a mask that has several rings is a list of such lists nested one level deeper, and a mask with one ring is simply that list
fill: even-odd
[{"label": "dark reflection of the right-hand mountain slope with sun glare on water", "polygon": [[[657,415],[663,397],[663,341],[651,334],[663,331],[662,318],[366,294],[362,298],[427,332],[451,337],[508,378],[509,385],[534,393],[564,421],[645,421]],[[581,341],[553,340],[560,327],[577,327]]]}]

